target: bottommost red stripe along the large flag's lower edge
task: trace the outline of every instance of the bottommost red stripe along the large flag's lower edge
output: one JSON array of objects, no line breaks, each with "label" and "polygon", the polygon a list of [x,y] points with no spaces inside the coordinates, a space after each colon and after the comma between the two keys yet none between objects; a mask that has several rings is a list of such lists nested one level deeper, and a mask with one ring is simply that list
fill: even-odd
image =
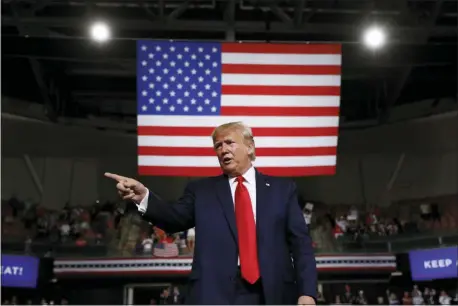
[{"label": "bottommost red stripe along the large flag's lower edge", "polygon": [[[336,173],[335,166],[318,167],[259,167],[263,174],[273,176],[314,176],[333,175]],[[222,174],[220,168],[210,167],[167,167],[167,166],[139,166],[139,175],[153,176],[215,176]]]}]

